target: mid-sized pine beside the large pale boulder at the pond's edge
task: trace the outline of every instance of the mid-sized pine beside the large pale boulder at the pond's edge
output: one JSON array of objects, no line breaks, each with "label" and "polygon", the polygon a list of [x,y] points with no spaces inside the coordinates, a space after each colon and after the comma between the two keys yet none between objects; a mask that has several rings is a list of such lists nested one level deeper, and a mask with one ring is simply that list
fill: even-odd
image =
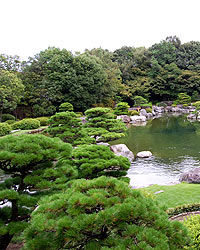
[{"label": "mid-sized pine beside the large pale boulder at the pond's edge", "polygon": [[78,178],[93,179],[101,175],[122,177],[126,176],[130,167],[126,157],[116,156],[103,145],[79,146],[73,150],[72,158]]}]

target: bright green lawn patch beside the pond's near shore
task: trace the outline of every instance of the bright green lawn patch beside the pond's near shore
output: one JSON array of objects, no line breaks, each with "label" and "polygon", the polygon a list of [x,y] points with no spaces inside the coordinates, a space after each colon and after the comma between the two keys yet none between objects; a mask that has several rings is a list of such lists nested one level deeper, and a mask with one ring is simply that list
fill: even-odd
[{"label": "bright green lawn patch beside the pond's near shore", "polygon": [[153,185],[141,188],[151,194],[163,190],[164,192],[154,194],[160,206],[166,209],[180,205],[200,203],[200,184],[180,183],[172,186]]}]

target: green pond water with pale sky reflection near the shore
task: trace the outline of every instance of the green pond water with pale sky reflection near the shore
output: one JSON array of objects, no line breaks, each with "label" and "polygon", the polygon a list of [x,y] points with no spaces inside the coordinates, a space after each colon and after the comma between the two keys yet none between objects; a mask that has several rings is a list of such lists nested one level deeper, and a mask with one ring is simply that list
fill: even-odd
[{"label": "green pond water with pale sky reflection near the shore", "polygon": [[133,187],[177,183],[181,173],[200,167],[200,123],[186,116],[163,115],[146,126],[130,125],[126,137],[110,144],[121,143],[134,155],[144,150],[153,154],[132,163],[127,175]]}]

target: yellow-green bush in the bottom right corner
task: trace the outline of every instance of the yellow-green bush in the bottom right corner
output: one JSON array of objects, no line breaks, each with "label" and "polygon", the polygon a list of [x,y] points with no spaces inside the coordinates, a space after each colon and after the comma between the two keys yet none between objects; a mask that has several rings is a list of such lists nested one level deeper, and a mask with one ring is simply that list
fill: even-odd
[{"label": "yellow-green bush in the bottom right corner", "polygon": [[183,224],[187,227],[191,242],[184,249],[200,250],[200,215],[192,215],[184,220]]}]

